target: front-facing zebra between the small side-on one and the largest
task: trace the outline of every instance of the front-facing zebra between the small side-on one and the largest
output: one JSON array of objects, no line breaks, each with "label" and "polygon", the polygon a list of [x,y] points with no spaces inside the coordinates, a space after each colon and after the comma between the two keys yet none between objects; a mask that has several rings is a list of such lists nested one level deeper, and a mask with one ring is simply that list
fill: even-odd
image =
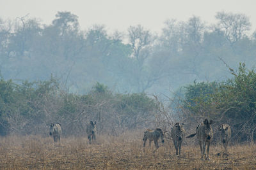
[{"label": "front-facing zebra between the small side-on one and the largest", "polygon": [[175,125],[172,126],[172,129],[171,129],[171,137],[176,149],[176,155],[178,155],[178,150],[180,155],[181,144],[185,137],[185,130],[183,125],[184,124],[176,123]]}]

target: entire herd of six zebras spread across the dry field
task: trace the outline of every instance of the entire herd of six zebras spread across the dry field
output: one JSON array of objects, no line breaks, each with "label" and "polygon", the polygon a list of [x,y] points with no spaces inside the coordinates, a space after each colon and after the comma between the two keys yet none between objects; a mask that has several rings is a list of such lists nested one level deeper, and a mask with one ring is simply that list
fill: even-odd
[{"label": "entire herd of six zebras spread across the dry field", "polygon": [[[186,138],[192,138],[196,136],[200,150],[201,150],[201,158],[205,160],[209,160],[209,150],[211,141],[213,138],[212,132],[212,120],[205,119],[203,122],[196,126],[196,131],[194,134],[190,134]],[[91,144],[92,141],[95,142],[96,140],[96,122],[90,121],[89,124],[86,125],[86,133],[88,134],[88,140]],[[218,131],[221,132],[221,143],[227,152],[227,146],[231,138],[231,129],[230,125],[228,124],[221,124],[218,127]],[[172,126],[170,136],[173,141],[173,145],[175,146],[176,155],[180,155],[182,141],[185,138],[185,129],[184,124],[176,123]],[[149,141],[149,147],[151,146],[151,142],[154,141],[156,149],[159,148],[158,140],[161,139],[162,143],[164,143],[164,131],[161,128],[156,128],[154,130],[147,129],[143,133],[143,148],[145,148],[147,140]],[[60,141],[61,136],[61,125],[58,123],[50,125],[50,136],[53,137],[54,142]],[[205,150],[207,153],[205,153]]]}]

